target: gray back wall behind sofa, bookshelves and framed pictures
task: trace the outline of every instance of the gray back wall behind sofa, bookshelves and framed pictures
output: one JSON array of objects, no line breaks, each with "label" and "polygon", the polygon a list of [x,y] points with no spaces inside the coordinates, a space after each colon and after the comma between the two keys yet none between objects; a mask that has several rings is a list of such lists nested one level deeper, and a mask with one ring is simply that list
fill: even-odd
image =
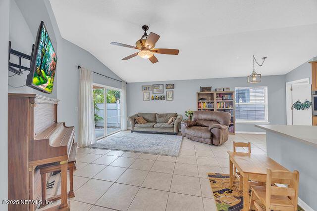
[{"label": "gray back wall behind sofa, bookshelves and framed pictures", "polygon": [[[165,84],[175,84],[173,101],[143,101],[142,85],[164,84],[164,94],[166,94]],[[258,84],[248,84],[246,77],[220,78],[220,79],[199,79],[165,82],[142,82],[127,84],[127,105],[128,116],[138,112],[177,112],[183,115],[188,109],[197,110],[197,95],[200,86],[235,87],[244,86],[267,86],[268,92],[268,121],[271,124],[286,124],[286,100],[285,100],[285,76],[264,76],[262,82]],[[150,93],[152,95],[152,92]],[[236,124],[236,131],[263,132],[254,127],[254,124]]]}]

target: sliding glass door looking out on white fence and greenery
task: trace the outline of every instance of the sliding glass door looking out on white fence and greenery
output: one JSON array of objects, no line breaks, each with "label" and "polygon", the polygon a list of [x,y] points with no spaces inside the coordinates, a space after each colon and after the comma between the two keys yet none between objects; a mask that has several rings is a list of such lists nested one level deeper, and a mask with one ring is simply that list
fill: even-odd
[{"label": "sliding glass door looking out on white fence and greenery", "polygon": [[99,140],[121,130],[121,89],[93,84],[95,134]]}]

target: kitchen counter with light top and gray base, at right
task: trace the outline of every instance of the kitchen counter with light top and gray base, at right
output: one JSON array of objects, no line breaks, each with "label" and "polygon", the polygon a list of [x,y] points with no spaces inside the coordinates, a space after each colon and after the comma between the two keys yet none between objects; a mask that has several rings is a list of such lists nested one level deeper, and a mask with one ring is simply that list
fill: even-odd
[{"label": "kitchen counter with light top and gray base, at right", "polygon": [[266,130],[266,154],[299,171],[299,205],[317,211],[317,126],[256,125]]}]

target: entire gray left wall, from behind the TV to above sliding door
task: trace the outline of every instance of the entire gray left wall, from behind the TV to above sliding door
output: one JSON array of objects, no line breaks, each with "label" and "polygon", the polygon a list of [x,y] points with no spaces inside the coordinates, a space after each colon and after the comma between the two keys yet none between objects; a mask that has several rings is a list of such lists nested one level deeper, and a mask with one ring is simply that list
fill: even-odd
[{"label": "entire gray left wall, from behind the TV to above sliding door", "polygon": [[[79,77],[78,65],[89,70],[121,80],[109,68],[101,63],[88,51],[61,38],[49,0],[10,0],[10,30],[9,39],[12,48],[30,54],[32,44],[35,42],[36,33],[41,20],[49,32],[53,47],[58,58],[56,66],[56,80],[54,81],[53,94],[45,94],[28,86],[21,88],[8,87],[9,92],[37,93],[60,100],[58,105],[58,122],[65,122],[67,126],[75,126],[75,137],[78,137],[78,95]],[[7,49],[7,48],[6,48]],[[14,60],[15,59],[15,60]],[[12,57],[12,61],[17,61]],[[24,65],[29,65],[25,62]],[[23,76],[9,78],[9,84],[19,86],[25,84],[26,71]],[[12,75],[12,73],[10,73]],[[106,79],[98,74],[93,74],[93,81],[120,88],[121,83]],[[5,83],[7,84],[7,82]],[[77,140],[77,139],[76,139]]]}]

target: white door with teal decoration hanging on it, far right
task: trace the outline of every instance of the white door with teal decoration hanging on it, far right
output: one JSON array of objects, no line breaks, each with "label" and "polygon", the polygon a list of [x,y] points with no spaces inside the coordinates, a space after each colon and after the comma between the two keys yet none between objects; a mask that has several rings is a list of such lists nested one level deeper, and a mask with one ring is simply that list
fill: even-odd
[{"label": "white door with teal decoration hanging on it, far right", "polygon": [[298,100],[311,101],[312,87],[309,78],[286,83],[286,123],[287,125],[312,125],[312,107],[296,110],[292,105]]}]

